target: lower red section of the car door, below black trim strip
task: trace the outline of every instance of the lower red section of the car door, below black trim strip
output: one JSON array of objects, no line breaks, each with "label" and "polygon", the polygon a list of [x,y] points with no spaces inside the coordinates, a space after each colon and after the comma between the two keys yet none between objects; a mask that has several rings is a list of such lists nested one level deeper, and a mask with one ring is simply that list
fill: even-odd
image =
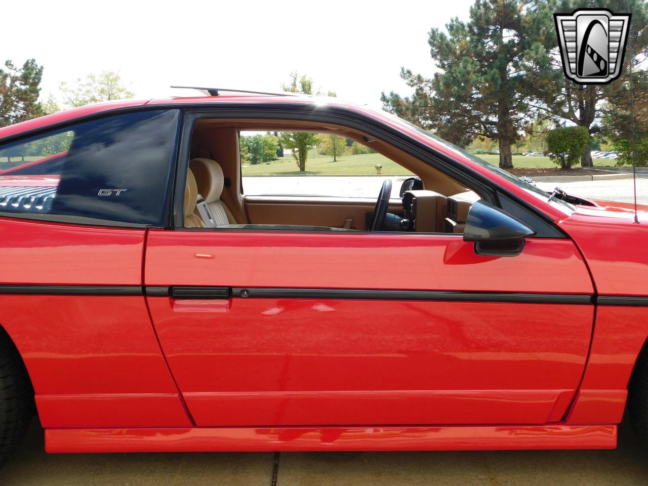
[{"label": "lower red section of the car door, below black trim strip", "polygon": [[593,318],[589,305],[148,302],[201,426],[545,423],[578,386]]}]

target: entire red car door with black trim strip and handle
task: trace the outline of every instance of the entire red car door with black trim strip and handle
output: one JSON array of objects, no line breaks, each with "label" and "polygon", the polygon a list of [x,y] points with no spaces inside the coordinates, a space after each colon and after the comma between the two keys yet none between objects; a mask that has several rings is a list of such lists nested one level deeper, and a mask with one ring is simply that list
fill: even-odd
[{"label": "entire red car door with black trim strip and handle", "polygon": [[594,313],[568,238],[152,229],[145,284],[198,426],[560,421]]}]

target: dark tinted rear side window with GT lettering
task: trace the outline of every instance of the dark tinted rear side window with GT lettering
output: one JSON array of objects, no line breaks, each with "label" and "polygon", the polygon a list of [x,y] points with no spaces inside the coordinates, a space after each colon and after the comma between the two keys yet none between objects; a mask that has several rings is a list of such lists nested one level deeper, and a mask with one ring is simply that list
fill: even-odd
[{"label": "dark tinted rear side window with GT lettering", "polygon": [[178,119],[139,111],[0,145],[0,213],[163,226]]}]

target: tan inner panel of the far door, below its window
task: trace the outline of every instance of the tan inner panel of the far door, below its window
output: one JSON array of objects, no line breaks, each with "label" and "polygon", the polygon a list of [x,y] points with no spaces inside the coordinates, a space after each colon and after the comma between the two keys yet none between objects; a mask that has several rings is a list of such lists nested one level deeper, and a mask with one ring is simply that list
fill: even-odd
[{"label": "tan inner panel of the far door, below its window", "polygon": [[[297,224],[345,227],[366,231],[365,214],[371,213],[375,200],[365,198],[303,198],[284,196],[246,196],[251,224]],[[389,203],[389,213],[402,213],[400,200]],[[347,220],[351,220],[348,223]]]}]

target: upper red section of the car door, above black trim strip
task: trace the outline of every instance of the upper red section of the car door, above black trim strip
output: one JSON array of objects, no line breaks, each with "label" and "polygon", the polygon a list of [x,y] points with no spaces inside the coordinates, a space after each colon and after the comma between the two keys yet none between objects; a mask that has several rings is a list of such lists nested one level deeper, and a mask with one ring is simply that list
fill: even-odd
[{"label": "upper red section of the car door, above black trim strip", "polygon": [[[212,255],[205,259],[196,257]],[[561,275],[557,279],[555,275]],[[146,285],[592,294],[570,240],[531,239],[515,258],[475,255],[461,235],[149,231]]]}]

